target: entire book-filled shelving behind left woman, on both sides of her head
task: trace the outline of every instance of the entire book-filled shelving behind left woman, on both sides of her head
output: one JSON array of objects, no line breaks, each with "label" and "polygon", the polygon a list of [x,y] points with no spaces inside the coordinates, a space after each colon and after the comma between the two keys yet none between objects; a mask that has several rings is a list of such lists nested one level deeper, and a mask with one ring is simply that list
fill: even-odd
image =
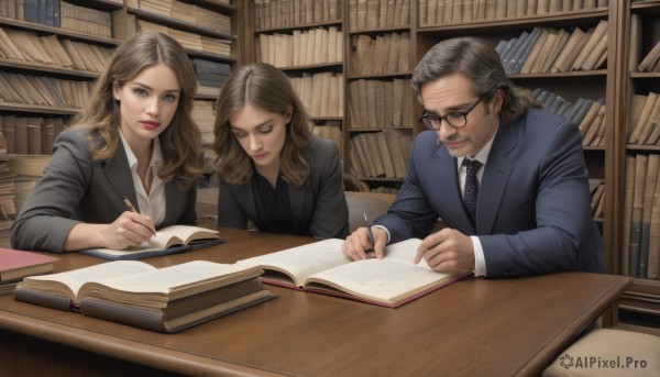
[{"label": "entire book-filled shelving behind left woman, on both sides of her head", "polygon": [[[8,166],[2,185],[15,181],[23,189],[30,185],[19,181],[41,176],[55,137],[85,107],[117,45],[139,31],[166,33],[187,48],[198,80],[193,117],[205,145],[211,144],[213,103],[239,60],[237,10],[230,0],[1,0],[0,132]],[[213,159],[207,158],[208,175]],[[42,168],[21,178],[25,175],[12,170],[16,160],[38,160]],[[12,196],[14,206],[2,204],[0,221],[13,220],[25,195]],[[0,246],[8,245],[7,229],[0,225]]]}]

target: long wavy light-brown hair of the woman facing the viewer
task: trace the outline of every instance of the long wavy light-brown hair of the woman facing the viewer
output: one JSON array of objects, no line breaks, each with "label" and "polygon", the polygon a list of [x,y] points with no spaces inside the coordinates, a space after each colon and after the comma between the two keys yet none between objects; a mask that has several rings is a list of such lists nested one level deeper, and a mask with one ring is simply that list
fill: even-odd
[{"label": "long wavy light-brown hair of the woman facing the viewer", "polygon": [[112,95],[112,84],[117,81],[122,87],[143,69],[156,64],[169,66],[178,75],[182,87],[172,123],[158,135],[163,153],[158,177],[164,182],[176,179],[180,188],[187,189],[195,186],[202,171],[201,132],[191,118],[197,80],[186,51],[170,36],[144,32],[119,45],[106,71],[97,79],[91,98],[76,123],[89,129],[92,158],[110,159],[120,143],[121,123],[120,106]]}]

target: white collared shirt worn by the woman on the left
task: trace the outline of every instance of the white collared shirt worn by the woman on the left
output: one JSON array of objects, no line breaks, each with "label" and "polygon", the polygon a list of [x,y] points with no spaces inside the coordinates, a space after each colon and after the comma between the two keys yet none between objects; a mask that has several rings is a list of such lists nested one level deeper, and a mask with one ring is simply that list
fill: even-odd
[{"label": "white collared shirt worn by the woman on the left", "polygon": [[[153,175],[152,186],[148,195],[142,185],[142,180],[140,180],[140,176],[138,175],[138,158],[131,149],[131,146],[127,142],[123,133],[119,130],[119,135],[121,136],[121,142],[124,146],[124,151],[127,152],[127,158],[129,160],[129,167],[131,168],[131,178],[133,178],[133,187],[135,188],[135,195],[138,197],[138,207],[140,213],[150,215],[154,219],[154,223],[156,228],[158,228],[163,221],[165,220],[165,185],[158,177],[158,171],[163,166],[163,154],[161,152],[161,141],[158,137],[154,138],[154,149],[152,152],[151,163],[148,165],[148,169]],[[148,175],[148,170],[147,170]]]}]

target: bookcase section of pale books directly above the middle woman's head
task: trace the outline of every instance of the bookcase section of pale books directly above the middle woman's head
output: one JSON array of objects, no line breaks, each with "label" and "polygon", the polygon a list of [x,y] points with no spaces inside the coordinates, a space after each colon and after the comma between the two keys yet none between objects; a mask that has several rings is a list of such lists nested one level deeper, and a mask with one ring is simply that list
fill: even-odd
[{"label": "bookcase section of pale books directly above the middle woman's head", "polygon": [[254,58],[290,78],[314,134],[344,155],[344,29],[340,0],[253,0]]}]

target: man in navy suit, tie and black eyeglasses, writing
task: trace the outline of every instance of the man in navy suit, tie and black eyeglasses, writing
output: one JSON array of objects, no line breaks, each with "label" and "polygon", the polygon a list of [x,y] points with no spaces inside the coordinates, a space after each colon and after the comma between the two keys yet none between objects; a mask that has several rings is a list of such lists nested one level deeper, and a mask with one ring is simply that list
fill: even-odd
[{"label": "man in navy suit, tie and black eyeglasses, writing", "polygon": [[[342,245],[350,259],[422,239],[415,263],[513,277],[605,273],[574,123],[537,109],[497,52],[474,37],[446,40],[421,59],[413,87],[424,104],[404,184],[388,212]],[[448,225],[432,233],[438,218]]]}]

